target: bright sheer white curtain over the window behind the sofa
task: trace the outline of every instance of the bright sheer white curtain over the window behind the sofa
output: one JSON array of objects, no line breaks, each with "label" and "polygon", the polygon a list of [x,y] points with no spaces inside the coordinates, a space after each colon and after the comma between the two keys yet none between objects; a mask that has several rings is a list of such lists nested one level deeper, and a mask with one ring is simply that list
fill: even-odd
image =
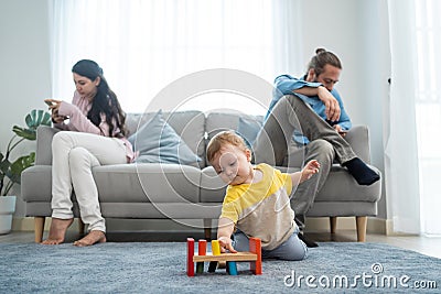
[{"label": "bright sheer white curtain over the window behind the sofa", "polygon": [[[291,36],[283,47],[279,44],[286,42],[284,30],[300,30],[301,19],[288,17],[291,10],[299,11],[299,2],[52,0],[53,96],[71,99],[71,68],[82,58],[103,66],[127,112],[144,111],[170,83],[209,68],[240,69],[272,84],[281,70],[298,70],[297,64],[280,57],[301,47],[301,37]],[[284,17],[275,11],[284,11]],[[205,100],[233,106],[225,97]]]}]

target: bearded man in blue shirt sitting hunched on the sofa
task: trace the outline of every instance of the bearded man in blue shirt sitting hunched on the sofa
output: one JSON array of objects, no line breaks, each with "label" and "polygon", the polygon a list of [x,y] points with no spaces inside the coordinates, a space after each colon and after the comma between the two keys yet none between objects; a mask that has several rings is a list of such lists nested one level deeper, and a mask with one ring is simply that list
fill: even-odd
[{"label": "bearded man in blue shirt sitting hunched on the sofa", "polygon": [[[320,172],[300,184],[291,198],[295,222],[301,230],[304,229],[304,216],[326,181],[334,160],[345,166],[359,185],[370,185],[379,179],[379,175],[358,159],[343,139],[352,123],[334,89],[342,72],[338,57],[323,48],[315,53],[302,78],[289,75],[276,78],[276,94],[254,145],[256,163],[301,166],[318,160],[321,164]],[[315,242],[299,237],[306,246],[316,247]]]}]

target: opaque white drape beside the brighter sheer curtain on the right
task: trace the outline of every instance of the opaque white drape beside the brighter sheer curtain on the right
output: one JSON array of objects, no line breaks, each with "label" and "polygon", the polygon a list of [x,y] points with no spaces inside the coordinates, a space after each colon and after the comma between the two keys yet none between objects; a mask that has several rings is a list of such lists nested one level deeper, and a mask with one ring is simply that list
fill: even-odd
[{"label": "opaque white drape beside the brighter sheer curtain on the right", "polygon": [[385,183],[394,231],[408,233],[420,232],[413,10],[413,0],[388,1],[391,85],[385,118]]}]

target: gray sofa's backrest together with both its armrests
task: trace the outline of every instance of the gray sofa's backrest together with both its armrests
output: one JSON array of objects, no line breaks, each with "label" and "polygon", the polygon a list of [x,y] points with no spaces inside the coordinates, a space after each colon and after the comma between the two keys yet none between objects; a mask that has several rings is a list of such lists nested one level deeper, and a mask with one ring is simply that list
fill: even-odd
[{"label": "gray sofa's backrest together with both its armrests", "polygon": [[[138,126],[144,124],[155,113],[128,113],[127,128],[129,134],[133,134]],[[239,133],[246,133],[250,129],[256,134],[256,124],[261,124],[262,116],[247,116],[244,113],[232,112],[209,112],[202,111],[178,111],[173,113],[163,113],[164,120],[181,135],[189,148],[197,154],[202,162],[200,167],[207,166],[205,150],[206,144],[213,135],[223,130],[236,130]],[[254,126],[252,126],[254,124]],[[241,128],[241,130],[240,130]],[[36,155],[35,165],[52,164],[51,142],[53,135],[60,130],[46,126],[40,126],[36,130]],[[369,130],[367,126],[354,126],[345,137],[354,152],[364,162],[370,163],[369,150]]]}]

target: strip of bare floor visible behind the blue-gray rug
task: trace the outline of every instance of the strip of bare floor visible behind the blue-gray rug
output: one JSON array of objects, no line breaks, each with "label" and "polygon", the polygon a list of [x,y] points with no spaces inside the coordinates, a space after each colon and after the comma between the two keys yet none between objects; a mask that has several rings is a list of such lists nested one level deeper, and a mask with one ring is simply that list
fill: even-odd
[{"label": "strip of bare floor visible behind the blue-gray rug", "polygon": [[[44,237],[46,237],[45,231]],[[107,239],[110,242],[151,242],[151,241],[180,241],[185,240],[186,237],[196,239],[204,238],[203,235],[198,236],[195,232],[149,232],[149,231],[133,231],[133,232],[108,232]],[[305,237],[318,242],[355,242],[356,232],[353,230],[337,230],[336,233],[329,232],[306,232]],[[66,235],[66,242],[73,242],[78,239],[78,233],[68,231]],[[7,235],[0,235],[1,243],[29,243],[34,241],[34,233],[32,231],[12,231]],[[426,255],[441,259],[441,237],[426,237],[426,236],[385,236],[367,233],[366,242],[388,243],[390,246],[409,249],[420,252]]]}]

